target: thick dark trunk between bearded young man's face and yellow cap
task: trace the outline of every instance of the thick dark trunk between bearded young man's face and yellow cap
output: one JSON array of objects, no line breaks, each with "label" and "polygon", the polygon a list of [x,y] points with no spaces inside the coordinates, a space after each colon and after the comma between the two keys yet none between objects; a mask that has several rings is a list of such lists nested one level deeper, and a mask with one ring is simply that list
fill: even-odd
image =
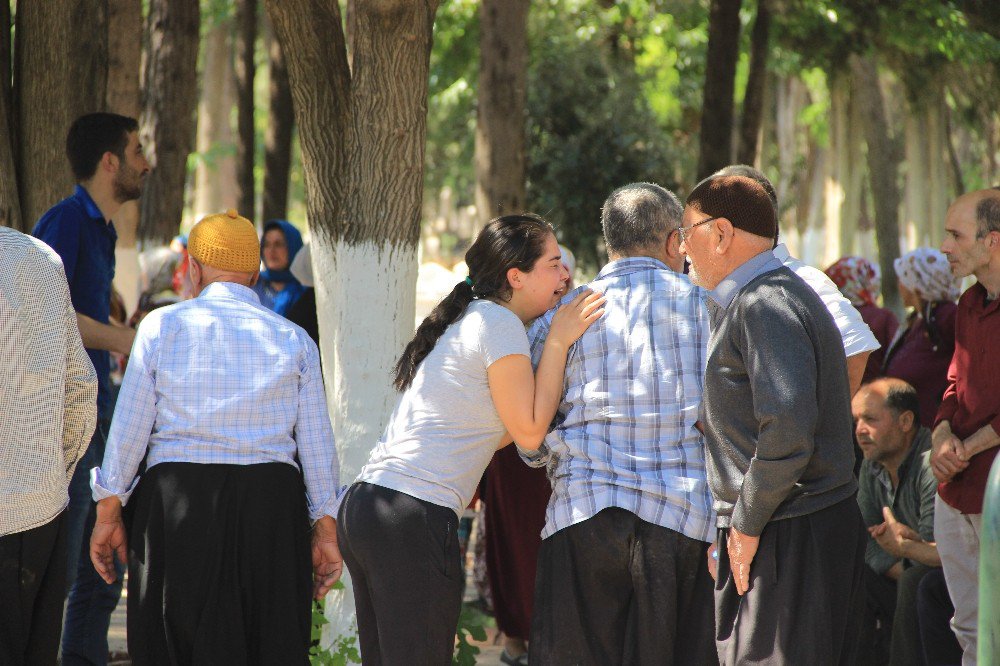
[{"label": "thick dark trunk between bearded young man's face and yellow cap", "polygon": [[198,103],[198,0],[149,0],[142,138],[152,173],[142,197],[139,237],[152,246],[177,234]]}]

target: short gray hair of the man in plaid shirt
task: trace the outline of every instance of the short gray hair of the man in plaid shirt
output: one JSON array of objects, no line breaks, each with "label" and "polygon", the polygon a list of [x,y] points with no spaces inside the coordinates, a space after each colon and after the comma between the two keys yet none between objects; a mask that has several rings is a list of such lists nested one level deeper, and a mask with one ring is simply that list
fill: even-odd
[{"label": "short gray hair of the man in plaid shirt", "polygon": [[630,183],[611,193],[601,209],[608,253],[629,255],[662,245],[681,225],[684,207],[677,195],[653,183]]}]

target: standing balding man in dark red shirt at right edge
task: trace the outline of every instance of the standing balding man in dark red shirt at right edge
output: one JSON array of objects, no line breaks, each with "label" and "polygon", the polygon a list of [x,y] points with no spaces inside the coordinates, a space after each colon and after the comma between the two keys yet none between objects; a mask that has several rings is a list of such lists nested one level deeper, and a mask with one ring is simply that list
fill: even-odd
[{"label": "standing balding man in dark red shirt at right edge", "polygon": [[1000,444],[1000,189],[959,197],[945,218],[941,251],[956,277],[976,276],[958,301],[955,355],[938,410],[931,467],[941,485],[934,535],[955,602],[952,627],[976,663],[979,537],[986,479]]}]

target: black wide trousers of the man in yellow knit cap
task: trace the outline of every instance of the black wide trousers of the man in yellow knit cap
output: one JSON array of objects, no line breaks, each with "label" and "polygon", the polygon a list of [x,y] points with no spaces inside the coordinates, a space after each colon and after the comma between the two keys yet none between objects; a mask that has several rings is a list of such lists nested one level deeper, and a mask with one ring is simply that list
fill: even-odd
[{"label": "black wide trousers of the man in yellow knit cap", "polygon": [[310,528],[297,469],[161,463],[127,508],[134,664],[308,663]]}]

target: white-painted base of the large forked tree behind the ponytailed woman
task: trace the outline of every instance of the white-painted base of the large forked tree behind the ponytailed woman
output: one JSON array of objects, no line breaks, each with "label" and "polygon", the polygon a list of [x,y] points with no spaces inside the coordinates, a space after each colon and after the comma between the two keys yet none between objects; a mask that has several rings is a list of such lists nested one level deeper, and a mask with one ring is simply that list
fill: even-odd
[{"label": "white-painted base of the large forked tree behind the ponytailed woman", "polygon": [[[323,376],[337,439],[340,483],[350,485],[382,435],[398,394],[392,368],[413,335],[417,248],[365,242],[312,242]],[[354,633],[354,596],[326,598],[323,644]]]}]

